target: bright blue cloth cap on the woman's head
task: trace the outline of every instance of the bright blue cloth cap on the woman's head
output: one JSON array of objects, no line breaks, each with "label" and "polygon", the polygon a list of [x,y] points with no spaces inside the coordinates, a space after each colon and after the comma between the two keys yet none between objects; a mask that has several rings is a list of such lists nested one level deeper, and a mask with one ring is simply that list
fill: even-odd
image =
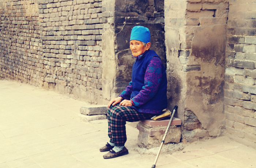
[{"label": "bright blue cloth cap on the woman's head", "polygon": [[135,26],[132,28],[131,32],[131,40],[139,40],[144,43],[149,43],[150,42],[150,31],[148,28],[144,26]]}]

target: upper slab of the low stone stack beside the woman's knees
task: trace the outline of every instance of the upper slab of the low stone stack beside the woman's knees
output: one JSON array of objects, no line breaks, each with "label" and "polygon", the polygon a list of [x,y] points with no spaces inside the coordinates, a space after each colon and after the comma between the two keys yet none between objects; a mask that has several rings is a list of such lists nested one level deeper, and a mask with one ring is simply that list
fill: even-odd
[{"label": "upper slab of the low stone stack beside the woman's knees", "polygon": [[102,115],[107,114],[108,107],[106,105],[87,105],[80,107],[80,113],[83,115]]}]

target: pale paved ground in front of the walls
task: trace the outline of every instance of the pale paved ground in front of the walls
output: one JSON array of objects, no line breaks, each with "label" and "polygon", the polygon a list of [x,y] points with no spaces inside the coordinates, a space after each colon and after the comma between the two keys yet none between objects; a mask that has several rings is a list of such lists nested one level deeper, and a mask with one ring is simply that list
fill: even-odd
[{"label": "pale paved ground in front of the walls", "polygon": [[[151,168],[140,154],[136,123],[127,124],[129,155],[103,159],[106,120],[80,121],[83,101],[28,84],[0,80],[0,168]],[[157,168],[256,168],[256,150],[219,137],[161,153]]]}]

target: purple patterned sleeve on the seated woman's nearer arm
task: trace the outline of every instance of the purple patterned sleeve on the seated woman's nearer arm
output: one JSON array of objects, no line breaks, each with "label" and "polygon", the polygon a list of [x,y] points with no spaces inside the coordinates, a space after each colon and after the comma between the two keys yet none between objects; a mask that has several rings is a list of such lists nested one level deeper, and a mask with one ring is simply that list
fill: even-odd
[{"label": "purple patterned sleeve on the seated woman's nearer arm", "polygon": [[162,80],[162,62],[158,57],[153,59],[148,64],[144,77],[144,86],[139,94],[132,98],[135,106],[139,107],[147,103],[158,92]]}]

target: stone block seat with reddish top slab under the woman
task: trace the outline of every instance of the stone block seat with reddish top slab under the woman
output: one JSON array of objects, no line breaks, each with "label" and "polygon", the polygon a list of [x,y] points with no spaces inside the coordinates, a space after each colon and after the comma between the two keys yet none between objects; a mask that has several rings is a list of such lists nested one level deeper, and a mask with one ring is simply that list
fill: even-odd
[{"label": "stone block seat with reddish top slab under the woman", "polygon": [[[169,123],[170,117],[160,121],[154,120],[141,120],[137,124],[139,130],[138,145],[143,148],[159,147]],[[173,117],[171,126],[165,138],[167,143],[180,143],[181,139],[181,120]]]}]

